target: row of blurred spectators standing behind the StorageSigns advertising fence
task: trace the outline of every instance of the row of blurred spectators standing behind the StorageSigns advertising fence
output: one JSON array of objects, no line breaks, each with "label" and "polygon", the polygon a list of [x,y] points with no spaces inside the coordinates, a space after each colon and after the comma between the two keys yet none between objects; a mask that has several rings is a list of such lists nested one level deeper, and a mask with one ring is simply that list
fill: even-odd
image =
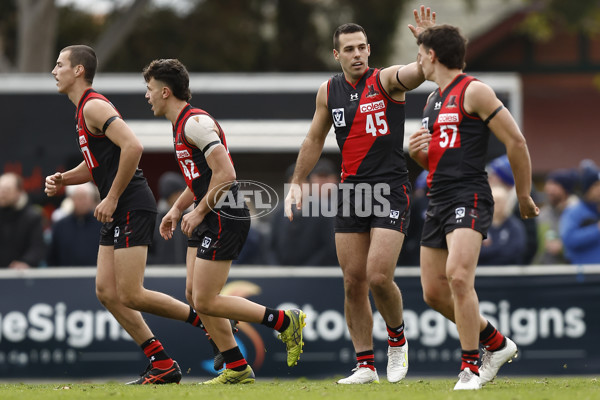
[{"label": "row of blurred spectators standing behind the StorageSigns advertising fence", "polygon": [[[291,178],[293,165],[285,171]],[[419,265],[420,229],[427,206],[427,171],[418,175],[411,196],[411,222],[398,265]],[[324,184],[338,182],[335,165],[322,159],[309,176],[320,202],[328,202]],[[480,265],[598,264],[600,263],[600,168],[589,159],[576,168],[557,169],[545,177],[533,197],[540,206],[537,219],[519,215],[514,179],[506,156],[493,159],[488,176],[494,197],[494,216],[483,242]],[[159,179],[159,213],[150,265],[185,265],[187,238],[177,230],[173,239],[158,234],[160,220],[185,189],[179,173]],[[28,200],[17,174],[0,176],[0,266],[93,266],[101,224],[94,218],[99,202],[91,183],[68,187],[59,208],[49,216]],[[319,206],[319,208],[321,208]],[[268,217],[256,219],[236,264],[335,266],[337,257],[333,217],[300,212],[290,222],[282,204]]]}]

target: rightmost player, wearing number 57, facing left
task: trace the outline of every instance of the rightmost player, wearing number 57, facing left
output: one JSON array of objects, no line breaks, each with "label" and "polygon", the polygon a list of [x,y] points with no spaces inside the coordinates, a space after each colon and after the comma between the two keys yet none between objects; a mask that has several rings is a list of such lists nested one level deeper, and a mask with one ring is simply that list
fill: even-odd
[{"label": "rightmost player, wearing number 57, facing left", "polygon": [[[438,89],[410,156],[429,171],[429,208],[421,237],[421,283],[427,304],[456,323],[462,364],[455,390],[479,389],[517,355],[517,346],[479,313],[475,269],[494,202],[485,172],[490,132],[504,143],[523,218],[538,215],[530,196],[531,161],[523,134],[494,91],[463,73],[466,40],[453,26],[418,37],[417,62]],[[479,368],[479,344],[483,346]]]}]

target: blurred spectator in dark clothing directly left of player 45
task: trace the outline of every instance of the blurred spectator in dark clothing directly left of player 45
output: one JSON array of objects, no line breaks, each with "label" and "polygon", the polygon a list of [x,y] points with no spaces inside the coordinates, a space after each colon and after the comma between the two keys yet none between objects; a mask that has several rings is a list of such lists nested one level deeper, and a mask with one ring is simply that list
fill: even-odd
[{"label": "blurred spectator in dark clothing directly left of player 45", "polygon": [[[286,170],[286,182],[290,182],[294,165]],[[283,207],[276,210],[271,220],[271,239],[269,241],[270,263],[276,265],[301,266],[337,266],[335,250],[334,218],[324,216],[323,209],[331,210],[337,205],[330,204],[330,190],[325,184],[336,184],[338,173],[333,163],[320,159],[308,176],[311,189],[318,190],[320,196],[311,193],[313,201],[318,199],[317,207],[310,207],[311,214],[303,215],[302,210],[292,209],[294,221],[284,215]],[[314,186],[313,186],[314,185]],[[321,190],[321,189],[324,190]],[[308,206],[308,204],[307,204]],[[313,213],[316,211],[316,213]]]}]

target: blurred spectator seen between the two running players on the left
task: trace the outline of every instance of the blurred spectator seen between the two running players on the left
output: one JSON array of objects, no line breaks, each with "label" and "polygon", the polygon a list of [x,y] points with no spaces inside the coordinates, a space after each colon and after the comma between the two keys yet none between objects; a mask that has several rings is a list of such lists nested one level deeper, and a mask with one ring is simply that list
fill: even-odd
[{"label": "blurred spectator seen between the two running players on the left", "polygon": [[179,172],[165,172],[158,180],[158,215],[156,228],[154,229],[154,239],[152,245],[148,248],[148,264],[185,265],[188,237],[181,229],[176,229],[173,231],[171,240],[164,240],[160,236],[158,227],[160,221],[173,207],[175,200],[179,198],[186,187],[185,179]]}]

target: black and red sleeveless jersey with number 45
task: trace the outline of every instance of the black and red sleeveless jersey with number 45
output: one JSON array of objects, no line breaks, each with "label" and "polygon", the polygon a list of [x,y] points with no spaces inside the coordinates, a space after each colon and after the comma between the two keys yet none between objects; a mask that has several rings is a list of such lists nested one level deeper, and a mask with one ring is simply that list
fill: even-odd
[{"label": "black and red sleeveless jersey with number 45", "polygon": [[386,93],[380,72],[368,69],[356,85],[343,73],[328,82],[327,108],[342,153],[342,182],[408,182],[404,101]]}]

